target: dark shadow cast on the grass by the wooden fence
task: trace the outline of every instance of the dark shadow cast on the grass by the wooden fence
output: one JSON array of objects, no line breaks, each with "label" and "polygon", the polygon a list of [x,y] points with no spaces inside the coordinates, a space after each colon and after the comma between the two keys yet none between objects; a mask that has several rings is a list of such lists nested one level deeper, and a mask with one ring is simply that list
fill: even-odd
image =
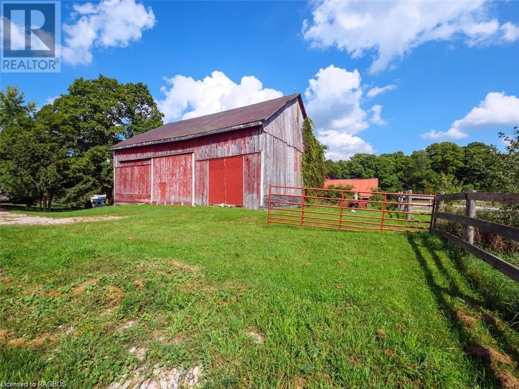
[{"label": "dark shadow cast on the grass by the wooden fence", "polygon": [[[484,310],[484,308],[488,308],[488,302],[476,297],[478,294],[474,293],[473,286],[468,282],[466,275],[456,261],[450,264],[444,263],[444,260],[438,255],[439,251],[444,252],[445,248],[442,247],[442,243],[439,245],[438,240],[431,240],[429,234],[409,233],[407,239],[418,260],[418,265],[424,272],[427,285],[438,303],[439,309],[449,321],[450,328],[463,350],[467,352],[471,348],[480,346],[488,347],[485,350],[493,350],[489,346],[479,343],[480,340],[476,335],[475,326],[481,319],[488,328],[489,334],[497,341],[501,349],[516,364],[519,364],[519,350],[510,343],[497,319],[488,315]],[[431,260],[427,260],[426,256],[430,257]],[[442,278],[446,281],[447,286],[442,285],[444,284]],[[462,284],[466,284],[465,288],[462,288]],[[466,293],[462,289],[469,289],[469,291]],[[471,291],[474,296],[470,296]],[[462,301],[461,304],[460,301]],[[463,307],[463,305],[466,305],[466,307]],[[469,355],[466,357],[471,358],[474,367],[479,370],[480,373],[477,374],[477,377],[481,381],[482,387],[487,387],[489,384],[489,382],[485,382],[484,377],[494,385],[500,386],[503,371],[491,359],[490,355],[481,358],[472,358]]]}]

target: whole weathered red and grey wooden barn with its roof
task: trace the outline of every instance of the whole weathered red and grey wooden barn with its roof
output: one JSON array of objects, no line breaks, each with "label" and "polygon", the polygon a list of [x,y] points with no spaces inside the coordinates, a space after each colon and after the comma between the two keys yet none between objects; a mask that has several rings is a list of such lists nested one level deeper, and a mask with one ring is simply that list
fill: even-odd
[{"label": "whole weathered red and grey wooden barn with its roof", "polygon": [[164,124],[111,147],[114,203],[266,206],[301,186],[301,95]]}]

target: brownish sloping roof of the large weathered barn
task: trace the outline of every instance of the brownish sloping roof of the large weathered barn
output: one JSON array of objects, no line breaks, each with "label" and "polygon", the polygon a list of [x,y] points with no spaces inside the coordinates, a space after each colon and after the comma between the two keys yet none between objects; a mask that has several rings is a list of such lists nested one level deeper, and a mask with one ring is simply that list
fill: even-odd
[{"label": "brownish sloping roof of the large weathered barn", "polygon": [[295,93],[262,103],[229,109],[216,114],[164,124],[154,130],[133,136],[126,141],[110,147],[113,149],[141,146],[154,143],[180,141],[183,139],[209,135],[217,132],[238,130],[258,126],[264,120],[278,112],[286,103],[297,99],[306,118],[301,94]]}]

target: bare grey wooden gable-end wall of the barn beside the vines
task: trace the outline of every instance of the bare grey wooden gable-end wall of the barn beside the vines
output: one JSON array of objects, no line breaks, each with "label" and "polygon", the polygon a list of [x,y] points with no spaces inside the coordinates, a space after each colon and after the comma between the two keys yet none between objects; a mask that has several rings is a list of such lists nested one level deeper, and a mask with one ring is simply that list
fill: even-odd
[{"label": "bare grey wooden gable-end wall of the barn beside the vines", "polygon": [[268,203],[269,185],[302,186],[303,120],[301,106],[295,99],[265,122],[262,136],[264,206]]}]

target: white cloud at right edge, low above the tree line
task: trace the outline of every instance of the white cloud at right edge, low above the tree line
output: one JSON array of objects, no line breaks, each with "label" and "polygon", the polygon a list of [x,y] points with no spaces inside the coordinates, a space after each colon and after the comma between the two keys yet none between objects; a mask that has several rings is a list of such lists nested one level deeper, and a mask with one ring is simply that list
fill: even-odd
[{"label": "white cloud at right edge, low above the tree line", "polygon": [[462,119],[456,120],[448,131],[431,130],[422,134],[425,139],[462,139],[467,131],[481,128],[517,126],[519,124],[519,99],[504,92],[490,92],[477,107]]}]

